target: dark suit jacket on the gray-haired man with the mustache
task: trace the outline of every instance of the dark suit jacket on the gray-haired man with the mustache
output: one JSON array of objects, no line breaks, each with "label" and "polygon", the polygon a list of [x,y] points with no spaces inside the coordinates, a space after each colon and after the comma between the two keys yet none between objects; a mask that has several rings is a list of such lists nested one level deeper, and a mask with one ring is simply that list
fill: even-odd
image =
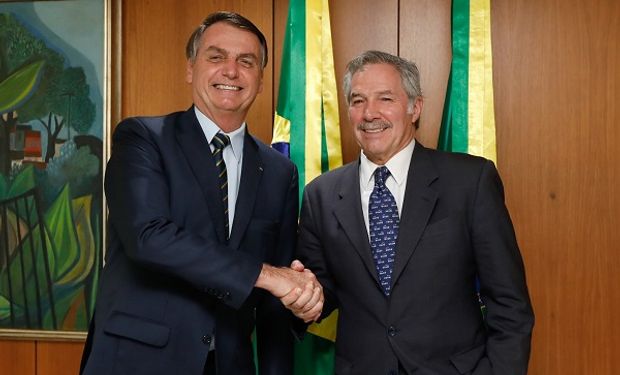
[{"label": "dark suit jacket on the gray-haired man with the mustache", "polygon": [[391,374],[399,363],[419,375],[526,373],[534,317],[492,162],[415,145],[389,297],[364,225],[359,162],[306,187],[298,252],[324,287],[322,316],[339,308],[337,374]]}]

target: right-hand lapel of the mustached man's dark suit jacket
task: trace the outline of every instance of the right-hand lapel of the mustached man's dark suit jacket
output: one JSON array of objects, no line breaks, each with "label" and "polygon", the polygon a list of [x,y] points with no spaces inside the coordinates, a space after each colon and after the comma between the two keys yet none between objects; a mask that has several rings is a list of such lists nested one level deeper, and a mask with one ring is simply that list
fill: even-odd
[{"label": "right-hand lapel of the mustached man's dark suit jacket", "polygon": [[430,188],[430,184],[437,178],[437,171],[430,160],[428,150],[420,143],[416,143],[409,164],[392,285],[397,281],[411,255],[413,255],[420,236],[435,208],[437,192]]}]

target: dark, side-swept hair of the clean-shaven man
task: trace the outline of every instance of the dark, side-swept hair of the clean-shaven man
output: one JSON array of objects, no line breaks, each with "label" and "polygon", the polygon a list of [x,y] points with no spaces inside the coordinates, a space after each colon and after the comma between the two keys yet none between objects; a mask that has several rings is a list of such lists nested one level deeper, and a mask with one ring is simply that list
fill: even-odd
[{"label": "dark, side-swept hair of the clean-shaven man", "polygon": [[234,26],[236,28],[249,31],[252,34],[256,35],[260,42],[261,49],[261,69],[265,69],[267,66],[267,40],[263,33],[252,23],[252,21],[243,17],[242,15],[234,12],[215,12],[211,13],[207,16],[207,18],[202,21],[200,26],[194,30],[192,35],[189,37],[187,41],[187,45],[185,47],[185,56],[192,63],[196,60],[196,55],[198,54],[198,47],[200,46],[200,38],[202,38],[202,34],[204,34],[205,30],[207,30],[210,26],[218,23],[218,22],[226,22],[227,24]]}]

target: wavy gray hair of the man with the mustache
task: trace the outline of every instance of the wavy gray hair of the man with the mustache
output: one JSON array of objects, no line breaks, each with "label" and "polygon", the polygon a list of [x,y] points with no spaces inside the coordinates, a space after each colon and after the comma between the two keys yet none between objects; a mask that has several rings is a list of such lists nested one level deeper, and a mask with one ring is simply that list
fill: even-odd
[{"label": "wavy gray hair of the man with the mustache", "polygon": [[410,107],[413,107],[415,100],[422,96],[422,89],[420,88],[420,72],[418,71],[418,67],[415,63],[386,52],[366,51],[353,58],[353,60],[347,64],[347,69],[343,80],[344,96],[347,101],[347,105],[351,104],[351,79],[353,78],[353,75],[361,70],[364,70],[366,65],[371,64],[389,64],[398,71],[403,90],[405,90],[407,97],[409,98]]}]

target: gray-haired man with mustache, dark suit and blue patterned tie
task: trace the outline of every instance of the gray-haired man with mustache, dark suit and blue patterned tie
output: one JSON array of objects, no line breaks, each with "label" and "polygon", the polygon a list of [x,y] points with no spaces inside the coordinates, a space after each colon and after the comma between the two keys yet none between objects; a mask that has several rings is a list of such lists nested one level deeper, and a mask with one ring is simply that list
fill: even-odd
[{"label": "gray-haired man with mustache, dark suit and blue patterned tie", "polygon": [[298,247],[321,316],[339,309],[336,374],[525,374],[534,316],[493,163],[415,141],[413,63],[368,51],[344,81],[362,153],[306,187]]}]

